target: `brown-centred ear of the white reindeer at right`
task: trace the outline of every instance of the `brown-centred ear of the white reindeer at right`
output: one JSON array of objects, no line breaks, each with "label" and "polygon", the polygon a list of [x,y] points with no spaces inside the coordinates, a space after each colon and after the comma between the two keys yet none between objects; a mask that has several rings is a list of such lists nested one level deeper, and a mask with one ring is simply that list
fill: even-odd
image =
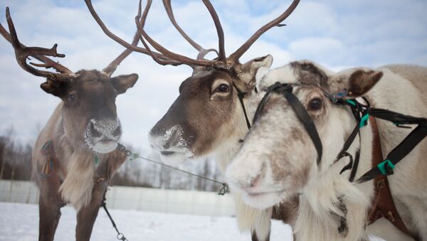
[{"label": "brown-centred ear of the white reindeer at right", "polygon": [[[383,73],[381,71],[367,69],[352,70],[350,73],[347,72],[344,76],[339,76],[339,87],[341,90],[347,89],[349,97],[359,97],[371,90],[372,87],[381,80],[382,76]],[[344,86],[342,86],[342,84],[344,84]],[[338,92],[341,90],[338,90]]]}]

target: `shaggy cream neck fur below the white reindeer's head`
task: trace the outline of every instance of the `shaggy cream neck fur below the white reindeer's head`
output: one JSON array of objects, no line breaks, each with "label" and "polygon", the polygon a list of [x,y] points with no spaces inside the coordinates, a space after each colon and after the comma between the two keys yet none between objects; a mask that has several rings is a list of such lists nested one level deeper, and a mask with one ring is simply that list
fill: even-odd
[{"label": "shaggy cream neck fur below the white reindeer's head", "polygon": [[[348,113],[351,115],[350,113]],[[350,122],[356,124],[356,122]],[[371,168],[371,128],[364,127],[362,130],[361,163],[357,176]],[[323,141],[323,140],[322,140]],[[323,142],[324,146],[330,146]],[[341,145],[336,145],[341,146]],[[355,139],[349,153],[354,154],[359,148],[359,139]],[[344,158],[332,164],[338,152],[336,149],[324,154],[320,165],[319,175],[310,178],[302,195],[300,196],[300,208],[295,223],[295,233],[298,240],[364,240],[364,226],[366,223],[367,210],[371,204],[373,195],[372,182],[354,185],[348,181],[350,171],[342,175],[339,172],[348,163]],[[338,150],[339,151],[339,150]],[[326,157],[328,156],[328,157]],[[331,166],[332,165],[332,166]],[[339,208],[344,204],[347,212]],[[339,232],[341,220],[347,221],[348,232]]]}]

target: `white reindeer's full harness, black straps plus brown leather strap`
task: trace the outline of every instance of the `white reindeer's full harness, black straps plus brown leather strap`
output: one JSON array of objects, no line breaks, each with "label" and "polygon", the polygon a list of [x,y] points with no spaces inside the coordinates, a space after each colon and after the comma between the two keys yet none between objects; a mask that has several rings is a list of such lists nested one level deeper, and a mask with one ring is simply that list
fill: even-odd
[{"label": "white reindeer's full harness, black straps plus brown leather strap", "polygon": [[[305,107],[302,105],[300,100],[298,100],[297,97],[295,97],[295,95],[292,94],[292,85],[297,85],[297,84],[275,82],[274,85],[271,85],[270,87],[268,87],[267,92],[265,93],[263,99],[258,105],[258,108],[256,109],[255,116],[253,117],[253,122],[255,123],[255,121],[260,117],[260,114],[265,106],[265,102],[267,101],[268,96],[271,94],[271,92],[276,92],[283,95],[286,98],[286,100],[288,100],[295,114],[297,114],[297,117],[300,119],[300,122],[302,122],[302,124],[304,125],[307,133],[310,135],[310,138],[313,141],[313,144],[315,144],[317,154],[318,154],[317,164],[319,164],[320,159],[322,157],[322,142],[320,141],[319,134],[317,133],[315,124],[312,122],[312,119],[310,118],[310,115],[307,113],[307,110],[305,110]],[[345,93],[347,93],[347,91]],[[404,126],[408,124],[417,124],[418,126],[415,129],[413,129],[413,131],[410,132],[408,136],[406,136],[406,138],[403,141],[401,141],[401,143],[397,145],[389,153],[389,155],[387,155],[385,161],[381,162],[381,160],[383,159],[381,154],[381,143],[379,143],[379,141],[376,141],[377,143],[374,144],[374,146],[375,145],[379,146],[379,149],[376,149],[374,147],[374,152],[372,157],[372,160],[374,161],[372,165],[374,166],[374,168],[372,168],[367,173],[364,173],[364,175],[357,180],[358,183],[363,183],[373,178],[375,178],[375,183],[381,183],[379,181],[376,181],[378,179],[382,179],[382,181],[386,183],[386,180],[387,180],[386,175],[393,174],[394,166],[398,164],[399,161],[404,159],[404,157],[407,156],[427,136],[427,119],[426,118],[411,117],[409,115],[391,112],[387,109],[371,108],[366,98],[364,98],[364,100],[367,102],[367,105],[362,105],[361,103],[357,102],[357,100],[354,100],[354,99],[345,100],[343,98],[345,94],[339,95],[337,97],[337,95],[329,95],[328,93],[325,92],[325,95],[330,98],[333,104],[349,106],[357,122],[356,127],[354,127],[352,133],[344,142],[344,145],[342,146],[342,150],[339,152],[337,156],[337,160],[335,161],[335,162],[339,161],[339,159],[342,159],[344,156],[349,156],[349,164],[347,164],[346,166],[344,166],[344,168],[342,168],[340,174],[346,170],[352,169],[352,172],[350,173],[350,176],[349,176],[350,182],[354,181],[354,177],[356,176],[356,173],[357,173],[357,167],[359,165],[360,146],[361,146],[360,145],[361,144],[360,129],[368,124],[369,118],[372,119],[371,122],[374,125],[373,132],[375,132],[375,129],[376,129],[377,136],[376,137],[374,136],[374,141],[375,141],[375,138],[379,140],[379,133],[376,127],[375,119],[373,118],[379,118],[389,122],[393,122],[394,124],[396,124],[397,127],[401,127],[401,128],[411,128],[411,127]],[[356,138],[357,134],[359,134],[359,149],[357,149],[355,154],[355,159],[353,160],[353,156],[349,154],[347,150],[354,142],[354,139]],[[375,154],[375,151],[377,152],[376,154]],[[374,157],[374,156],[379,156],[379,157]],[[353,163],[354,163],[354,166],[353,166]],[[384,176],[381,176],[381,175],[384,175]],[[377,190],[377,193],[379,194],[377,194],[376,196],[377,200],[373,205],[373,210],[375,212],[374,214],[380,213],[381,215],[384,215],[384,211],[386,212],[386,215],[389,215],[389,213],[391,213],[391,223],[393,223],[393,225],[399,228],[399,230],[401,230],[402,232],[405,232],[406,234],[414,237],[413,235],[411,235],[411,232],[409,232],[406,226],[404,225],[403,220],[401,220],[399,213],[397,212],[396,207],[394,205],[388,185],[386,185],[386,188],[382,188],[382,189],[384,189],[382,193],[385,193],[382,195],[381,193],[379,193],[379,190]],[[380,200],[380,198],[384,198],[384,197],[387,200]],[[394,215],[396,215],[396,220],[394,220],[393,218],[393,213]],[[369,215],[369,221],[374,222],[374,220],[376,219],[371,219],[371,215]],[[344,217],[344,224],[345,224],[345,221],[346,220]],[[342,225],[341,227],[345,227],[345,226]],[[339,229],[339,232],[342,233],[342,230],[343,229]]]}]

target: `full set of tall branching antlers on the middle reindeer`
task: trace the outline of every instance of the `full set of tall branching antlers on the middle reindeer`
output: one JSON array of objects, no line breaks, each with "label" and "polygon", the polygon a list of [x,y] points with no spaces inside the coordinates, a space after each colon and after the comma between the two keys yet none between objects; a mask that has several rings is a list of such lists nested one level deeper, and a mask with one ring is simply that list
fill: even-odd
[{"label": "full set of tall branching antlers on the middle reindeer", "polygon": [[[202,0],[202,1],[206,6],[206,9],[208,9],[209,14],[211,14],[212,19],[214,20],[216,32],[218,34],[218,51],[212,48],[206,50],[202,48],[201,45],[193,41],[182,30],[182,28],[178,25],[178,23],[176,23],[174,13],[172,11],[171,0],[163,0],[163,5],[167,11],[167,15],[169,16],[169,19],[174,25],[174,27],[176,28],[176,30],[178,30],[179,33],[181,33],[181,36],[183,36],[186,39],[186,41],[188,41],[194,48],[196,48],[196,50],[199,51],[199,55],[197,56],[197,58],[193,59],[193,58],[186,57],[184,55],[180,55],[178,53],[173,53],[170,50],[167,50],[167,48],[164,48],[162,45],[157,43],[157,41],[154,41],[154,39],[152,39],[147,34],[147,32],[144,31],[144,23],[146,21],[149,8],[152,4],[152,0],[147,0],[147,5],[145,6],[145,9],[144,9],[144,14],[141,14],[142,0],[139,0],[138,14],[135,17],[135,23],[137,24],[138,33],[140,35],[139,40],[144,45],[144,48],[138,48],[138,47],[132,46],[126,41],[123,41],[121,38],[115,36],[115,34],[109,31],[105,26],[105,24],[102,23],[102,21],[100,20],[100,17],[97,16],[95,10],[93,9],[91,0],[85,0],[86,5],[88,5],[88,9],[90,13],[95,18],[95,21],[97,21],[97,23],[100,25],[100,27],[102,28],[102,31],[104,31],[104,33],[107,34],[107,36],[115,40],[117,43],[120,43],[121,45],[123,45],[125,48],[129,48],[130,50],[150,55],[154,61],[156,61],[161,65],[185,64],[185,65],[191,66],[192,68],[194,68],[195,66],[206,66],[206,67],[211,66],[214,68],[226,68],[226,69],[233,68],[234,65],[238,64],[238,59],[241,58],[243,53],[245,53],[263,33],[268,31],[270,28],[273,28],[273,26],[283,26],[280,23],[284,21],[286,18],[288,18],[288,16],[292,14],[292,11],[294,11],[297,5],[300,3],[300,0],[293,0],[292,4],[290,4],[288,9],[283,14],[281,14],[280,16],[278,16],[278,18],[275,18],[273,21],[270,21],[269,23],[265,24],[263,27],[258,29],[258,31],[256,31],[253,34],[253,36],[251,36],[251,38],[248,39],[248,41],[243,43],[243,45],[241,45],[240,48],[238,48],[234,53],[232,53],[230,56],[228,56],[228,58],[226,58],[226,53],[224,50],[225,49],[224,33],[223,33],[223,28],[221,26],[221,22],[219,21],[219,18],[218,18],[218,14],[216,14],[216,11],[214,9],[214,6],[212,6],[211,1],[209,0]],[[149,43],[149,45],[152,45],[154,49],[159,51],[159,53],[152,51],[149,48],[149,45],[146,43],[146,41]],[[216,52],[218,54],[218,58],[214,60],[205,60],[204,56],[211,51]]]}]

